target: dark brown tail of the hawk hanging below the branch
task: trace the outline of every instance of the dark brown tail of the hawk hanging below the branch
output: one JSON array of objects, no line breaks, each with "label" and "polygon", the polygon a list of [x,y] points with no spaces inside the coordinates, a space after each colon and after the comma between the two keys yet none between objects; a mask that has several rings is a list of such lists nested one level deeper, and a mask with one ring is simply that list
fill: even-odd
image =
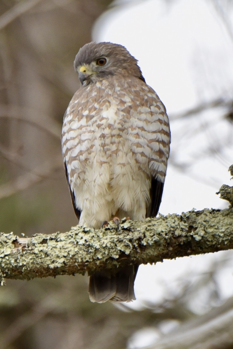
[{"label": "dark brown tail of the hawk hanging below the branch", "polygon": [[137,269],[138,265],[131,265],[119,270],[116,274],[110,274],[104,270],[91,275],[89,281],[91,302],[104,303],[107,300],[130,302],[135,300],[134,281]]}]

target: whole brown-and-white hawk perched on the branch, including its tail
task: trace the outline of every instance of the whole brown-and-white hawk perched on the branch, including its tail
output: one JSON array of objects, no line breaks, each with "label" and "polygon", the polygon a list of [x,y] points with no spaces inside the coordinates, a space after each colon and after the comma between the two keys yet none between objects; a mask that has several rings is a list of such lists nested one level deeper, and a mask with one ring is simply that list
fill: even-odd
[{"label": "whole brown-and-white hawk perched on the branch, including its tail", "polygon": [[[100,228],[115,216],[155,217],[170,151],[165,106],[121,45],[86,44],[74,67],[82,86],[64,116],[62,153],[79,225]],[[94,273],[90,300],[134,300],[137,269]]]}]

